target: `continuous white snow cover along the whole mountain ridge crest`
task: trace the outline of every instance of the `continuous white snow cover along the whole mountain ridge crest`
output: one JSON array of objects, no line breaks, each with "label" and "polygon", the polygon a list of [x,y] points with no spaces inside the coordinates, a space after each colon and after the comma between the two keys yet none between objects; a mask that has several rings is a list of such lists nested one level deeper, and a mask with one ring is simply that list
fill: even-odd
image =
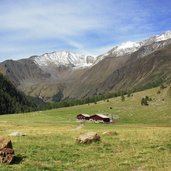
[{"label": "continuous white snow cover along the whole mountain ridge crest", "polygon": [[[138,51],[141,47],[151,46],[142,52],[140,57],[147,55],[154,50],[165,45],[165,41],[171,39],[171,31],[167,31],[161,35],[156,35],[140,42],[127,41],[118,46],[115,46],[113,49],[108,51],[105,54],[102,54],[98,57],[80,55],[77,53],[72,53],[68,51],[61,52],[52,52],[46,53],[40,56],[34,57],[34,62],[40,67],[48,67],[49,65],[56,66],[68,66],[74,69],[90,67],[98,63],[106,56],[120,57],[124,55],[131,55],[132,53]],[[170,40],[169,40],[170,41]],[[164,43],[162,43],[164,42]]]}]

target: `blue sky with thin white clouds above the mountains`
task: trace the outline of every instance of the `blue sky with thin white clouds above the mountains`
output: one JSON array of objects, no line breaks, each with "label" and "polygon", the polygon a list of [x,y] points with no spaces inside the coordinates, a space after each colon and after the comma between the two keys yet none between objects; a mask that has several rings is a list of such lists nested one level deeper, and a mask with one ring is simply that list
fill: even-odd
[{"label": "blue sky with thin white clouds above the mountains", "polygon": [[170,0],[0,0],[0,61],[61,50],[99,55],[167,30]]}]

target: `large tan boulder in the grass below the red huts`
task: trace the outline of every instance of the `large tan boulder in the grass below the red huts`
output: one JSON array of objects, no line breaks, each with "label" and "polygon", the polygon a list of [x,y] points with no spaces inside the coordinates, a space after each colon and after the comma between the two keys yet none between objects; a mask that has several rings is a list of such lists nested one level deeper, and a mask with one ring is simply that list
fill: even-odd
[{"label": "large tan boulder in the grass below the red huts", "polygon": [[92,142],[100,141],[100,136],[95,132],[88,132],[80,135],[76,141],[80,144],[90,144]]}]

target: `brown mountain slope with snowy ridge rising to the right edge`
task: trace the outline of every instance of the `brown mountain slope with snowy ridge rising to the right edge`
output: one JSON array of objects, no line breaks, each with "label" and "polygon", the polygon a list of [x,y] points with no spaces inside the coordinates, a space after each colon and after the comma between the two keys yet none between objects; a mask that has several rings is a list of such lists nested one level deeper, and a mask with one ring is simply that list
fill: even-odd
[{"label": "brown mountain slope with snowy ridge rising to the right edge", "polygon": [[[160,84],[166,79],[163,78],[166,72],[167,77],[171,75],[168,72],[171,68],[170,44],[171,31],[167,31],[138,43],[127,42],[116,46],[98,56],[97,60],[100,60],[96,65],[81,75],[65,96],[84,98],[105,92],[148,88],[157,85],[155,82]],[[169,66],[167,70],[165,66]],[[76,85],[79,85],[77,89]]]}]

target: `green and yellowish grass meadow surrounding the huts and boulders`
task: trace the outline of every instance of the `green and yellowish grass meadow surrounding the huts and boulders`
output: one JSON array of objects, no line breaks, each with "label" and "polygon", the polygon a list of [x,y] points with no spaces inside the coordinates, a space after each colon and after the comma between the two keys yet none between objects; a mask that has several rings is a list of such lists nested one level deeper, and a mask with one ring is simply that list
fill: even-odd
[{"label": "green and yellowish grass meadow surrounding the huts and boulders", "polygon": [[[1,165],[11,171],[170,171],[171,170],[171,89],[159,88],[126,97],[49,111],[0,116],[0,136],[13,142],[18,163]],[[141,98],[150,96],[149,106]],[[112,109],[111,109],[112,107]],[[109,113],[119,116],[115,124],[76,122],[78,113]],[[11,132],[26,133],[9,137]],[[94,131],[101,142],[77,144],[84,132]],[[105,131],[115,135],[102,135]],[[20,161],[22,158],[22,161]]]}]

